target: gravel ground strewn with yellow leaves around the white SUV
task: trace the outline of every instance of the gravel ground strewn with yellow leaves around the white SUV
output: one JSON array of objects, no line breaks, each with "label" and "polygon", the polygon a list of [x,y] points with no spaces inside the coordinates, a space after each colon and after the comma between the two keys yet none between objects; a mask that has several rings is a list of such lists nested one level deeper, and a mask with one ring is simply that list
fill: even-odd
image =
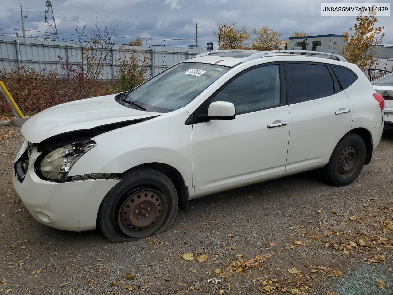
[{"label": "gravel ground strewn with yellow leaves around the white SUV", "polygon": [[349,186],[307,172],[203,197],[121,244],[36,222],[11,182],[19,130],[0,135],[0,294],[393,293],[393,131]]}]

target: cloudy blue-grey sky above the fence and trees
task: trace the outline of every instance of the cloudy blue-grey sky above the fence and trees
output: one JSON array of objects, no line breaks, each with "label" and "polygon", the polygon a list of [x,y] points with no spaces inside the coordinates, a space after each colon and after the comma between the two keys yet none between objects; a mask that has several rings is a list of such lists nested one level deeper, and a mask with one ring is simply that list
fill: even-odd
[{"label": "cloudy blue-grey sky above the fence and trees", "polygon": [[[317,0],[51,0],[59,38],[75,40],[75,28],[92,19],[100,24],[112,24],[116,42],[127,44],[140,35],[144,44],[161,46],[195,46],[195,27],[198,23],[198,47],[217,39],[218,23],[237,22],[246,26],[252,36],[253,28],[268,26],[279,31],[282,38],[293,31],[308,31],[313,35],[342,34],[353,26],[356,17],[322,17],[321,2]],[[339,2],[328,1],[323,2]],[[385,1],[342,1],[377,2]],[[45,0],[0,0],[0,35],[21,33],[22,4],[26,36],[43,37],[45,30]],[[393,7],[392,7],[393,8]],[[385,26],[384,42],[393,42],[393,14],[378,18]],[[154,38],[154,41],[153,41]],[[249,42],[251,42],[250,40]],[[206,48],[206,47],[205,47]]]}]

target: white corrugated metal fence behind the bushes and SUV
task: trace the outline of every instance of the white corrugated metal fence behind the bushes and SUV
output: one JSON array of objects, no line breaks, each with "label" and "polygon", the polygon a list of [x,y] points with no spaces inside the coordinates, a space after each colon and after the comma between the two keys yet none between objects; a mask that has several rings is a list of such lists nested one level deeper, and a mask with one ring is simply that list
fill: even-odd
[{"label": "white corrugated metal fence behind the bushes and SUV", "polygon": [[[189,59],[203,49],[169,48],[157,46],[122,46],[114,45],[109,52],[102,70],[100,79],[116,79],[118,74],[119,57],[130,57],[140,52],[149,58],[146,77],[158,74],[165,68],[180,61]],[[59,58],[60,57],[60,58]],[[13,70],[18,66],[33,68],[40,71],[60,71],[62,66],[78,66],[86,63],[82,59],[82,48],[77,42],[54,42],[44,40],[31,40],[30,38],[0,36],[0,70]]]}]

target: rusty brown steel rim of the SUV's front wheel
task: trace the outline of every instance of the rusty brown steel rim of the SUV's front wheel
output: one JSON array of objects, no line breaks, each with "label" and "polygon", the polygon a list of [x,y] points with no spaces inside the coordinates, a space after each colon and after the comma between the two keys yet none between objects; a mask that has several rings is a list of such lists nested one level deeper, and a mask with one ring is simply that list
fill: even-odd
[{"label": "rusty brown steel rim of the SUV's front wheel", "polygon": [[160,228],[167,212],[168,204],[161,192],[141,188],[127,195],[119,209],[118,224],[127,236],[142,238]]}]

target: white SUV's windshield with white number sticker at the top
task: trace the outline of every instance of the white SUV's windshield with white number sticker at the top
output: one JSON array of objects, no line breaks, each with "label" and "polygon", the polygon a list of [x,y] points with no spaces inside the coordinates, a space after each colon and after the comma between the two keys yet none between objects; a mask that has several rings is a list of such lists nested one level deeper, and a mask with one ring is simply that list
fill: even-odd
[{"label": "white SUV's windshield with white number sticker at the top", "polygon": [[179,63],[132,90],[125,100],[149,112],[171,112],[187,105],[230,69],[203,63]]}]

